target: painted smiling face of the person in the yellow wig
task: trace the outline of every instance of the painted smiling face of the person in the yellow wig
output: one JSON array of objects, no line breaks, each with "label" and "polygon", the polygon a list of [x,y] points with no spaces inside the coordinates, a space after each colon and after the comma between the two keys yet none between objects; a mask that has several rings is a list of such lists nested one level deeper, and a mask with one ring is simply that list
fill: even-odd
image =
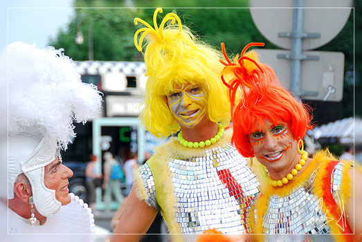
[{"label": "painted smiling face of the person in the yellow wig", "polygon": [[206,93],[198,85],[181,86],[168,95],[168,105],[174,118],[183,126],[192,128],[206,115]]}]

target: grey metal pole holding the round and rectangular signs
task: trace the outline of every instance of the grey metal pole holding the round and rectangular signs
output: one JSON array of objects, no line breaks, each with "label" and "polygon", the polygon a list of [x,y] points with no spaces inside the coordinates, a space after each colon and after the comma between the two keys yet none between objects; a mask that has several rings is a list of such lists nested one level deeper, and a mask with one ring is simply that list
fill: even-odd
[{"label": "grey metal pole holding the round and rectangular signs", "polygon": [[302,57],[303,0],[294,0],[293,35],[291,44],[291,91],[297,96],[300,91],[300,70]]}]

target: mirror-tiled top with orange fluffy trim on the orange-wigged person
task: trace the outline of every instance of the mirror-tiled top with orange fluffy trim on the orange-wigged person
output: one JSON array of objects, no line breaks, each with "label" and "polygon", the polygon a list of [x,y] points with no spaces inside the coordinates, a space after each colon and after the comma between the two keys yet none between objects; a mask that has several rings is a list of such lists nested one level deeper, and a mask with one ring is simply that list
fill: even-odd
[{"label": "mirror-tiled top with orange fluffy trim on the orange-wigged person", "polygon": [[[342,234],[350,231],[343,202],[343,174],[350,164],[317,154],[298,180],[287,186],[266,185],[255,203],[256,233]],[[348,179],[349,180],[349,179]],[[342,210],[340,210],[342,207]]]}]

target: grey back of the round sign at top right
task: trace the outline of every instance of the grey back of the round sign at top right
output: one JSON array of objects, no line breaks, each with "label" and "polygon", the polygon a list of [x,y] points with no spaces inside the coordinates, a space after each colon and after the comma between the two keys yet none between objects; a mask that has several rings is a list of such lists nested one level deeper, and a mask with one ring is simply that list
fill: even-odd
[{"label": "grey back of the round sign at top right", "polygon": [[[303,38],[302,50],[312,50],[327,44],[345,26],[352,10],[352,0],[304,0],[303,32],[319,33],[320,37]],[[293,30],[293,3],[284,0],[250,0],[251,17],[266,39],[280,48],[291,49],[292,38],[279,33]]]}]

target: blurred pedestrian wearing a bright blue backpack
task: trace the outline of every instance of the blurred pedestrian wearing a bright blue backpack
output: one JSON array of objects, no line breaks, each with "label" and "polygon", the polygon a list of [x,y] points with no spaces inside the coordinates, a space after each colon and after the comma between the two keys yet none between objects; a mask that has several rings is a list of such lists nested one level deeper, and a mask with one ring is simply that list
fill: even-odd
[{"label": "blurred pedestrian wearing a bright blue backpack", "polygon": [[116,201],[119,204],[123,202],[123,194],[120,190],[120,183],[124,177],[124,174],[120,164],[114,158],[111,152],[105,152],[103,158],[105,159],[105,165],[102,189],[106,190],[105,210],[109,211],[112,202],[112,195],[116,198]]}]

